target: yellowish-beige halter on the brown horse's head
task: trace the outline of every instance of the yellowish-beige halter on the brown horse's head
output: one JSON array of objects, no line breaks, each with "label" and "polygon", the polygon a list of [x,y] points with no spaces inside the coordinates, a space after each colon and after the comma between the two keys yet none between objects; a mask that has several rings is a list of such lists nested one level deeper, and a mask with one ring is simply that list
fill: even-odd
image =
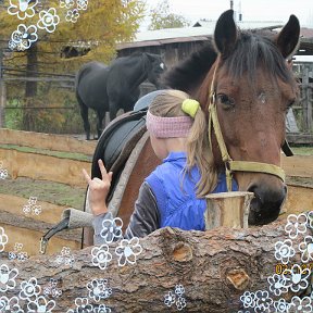
[{"label": "yellowish-beige halter on the brown horse's head", "polygon": [[212,150],[212,127],[214,129],[214,134],[218,143],[218,148],[222,154],[222,160],[225,164],[225,173],[226,173],[226,183],[228,191],[231,191],[231,183],[233,183],[233,172],[252,172],[252,173],[264,173],[277,176],[283,181],[285,181],[285,172],[281,167],[268,164],[268,163],[261,163],[261,162],[251,162],[251,161],[234,161],[226,148],[223,134],[221,130],[218,116],[217,116],[217,109],[216,109],[216,95],[214,90],[214,83],[215,83],[215,73],[218,65],[218,60],[216,61],[216,65],[213,73],[213,79],[211,82],[210,88],[210,102],[209,102],[209,142],[210,148]]}]

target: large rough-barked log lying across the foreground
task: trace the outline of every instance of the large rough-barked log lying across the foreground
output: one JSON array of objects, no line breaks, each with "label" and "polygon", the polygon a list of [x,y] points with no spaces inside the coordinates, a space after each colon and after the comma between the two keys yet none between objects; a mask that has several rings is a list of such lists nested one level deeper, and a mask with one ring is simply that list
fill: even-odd
[{"label": "large rough-barked log lying across the foreground", "polygon": [[[237,312],[242,309],[240,296],[245,290],[268,290],[267,277],[275,274],[279,263],[274,258],[275,242],[288,238],[285,225],[286,220],[248,229],[183,231],[166,227],[140,239],[142,252],[134,265],[118,266],[114,251],[120,243],[111,243],[113,259],[105,270],[92,265],[92,247],[72,252],[72,266],[58,265],[55,255],[33,256],[24,263],[7,260],[5,264],[18,270],[16,286],[30,277],[40,286],[50,278],[58,280],[62,296],[55,299],[52,312],[75,309],[75,299],[88,298],[87,284],[99,278],[108,279],[112,288],[112,295],[100,302],[112,312],[177,312],[175,305],[164,304],[164,295],[176,285],[185,288],[187,305],[183,312]],[[300,256],[296,254],[292,263],[300,264]],[[3,253],[1,259],[3,263]],[[18,292],[16,287],[5,296],[18,297]],[[92,301],[89,299],[97,304]]]}]

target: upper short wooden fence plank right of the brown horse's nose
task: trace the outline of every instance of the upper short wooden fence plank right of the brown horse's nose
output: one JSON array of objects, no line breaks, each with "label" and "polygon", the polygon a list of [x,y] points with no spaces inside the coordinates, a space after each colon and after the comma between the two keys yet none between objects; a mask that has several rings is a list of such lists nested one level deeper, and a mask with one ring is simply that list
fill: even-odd
[{"label": "upper short wooden fence plank right of the brown horse's nose", "polygon": [[308,177],[313,183],[313,155],[283,155],[281,167],[287,176]]}]

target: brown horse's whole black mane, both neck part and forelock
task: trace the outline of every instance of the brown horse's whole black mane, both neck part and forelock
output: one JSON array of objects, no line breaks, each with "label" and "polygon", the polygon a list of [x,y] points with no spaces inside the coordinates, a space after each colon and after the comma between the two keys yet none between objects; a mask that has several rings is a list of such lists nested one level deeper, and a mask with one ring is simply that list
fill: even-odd
[{"label": "brown horse's whole black mane, both neck part and forelock", "polygon": [[[273,32],[262,29],[238,29],[238,40],[234,51],[223,59],[229,76],[236,79],[248,73],[249,80],[253,84],[258,78],[256,68],[261,65],[271,78],[279,77],[296,87],[295,77],[275,45],[275,35]],[[186,60],[165,72],[161,82],[166,88],[190,93],[199,88],[216,57],[216,48],[211,39]]]}]

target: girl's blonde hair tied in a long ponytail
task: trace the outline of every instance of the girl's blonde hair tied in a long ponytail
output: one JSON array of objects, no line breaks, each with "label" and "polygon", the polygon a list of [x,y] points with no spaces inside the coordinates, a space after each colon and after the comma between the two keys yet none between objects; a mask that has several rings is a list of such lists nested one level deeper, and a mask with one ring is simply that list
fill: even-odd
[{"label": "girl's blonde hair tied in a long ponytail", "polygon": [[[181,110],[184,100],[190,96],[180,90],[164,90],[158,95],[149,107],[151,114],[162,117],[189,116]],[[214,167],[213,154],[209,146],[208,121],[204,112],[199,108],[192,126],[186,138],[188,173],[195,165],[200,171],[200,180],[197,184],[197,196],[204,197],[210,193],[217,181],[217,174]]]}]

